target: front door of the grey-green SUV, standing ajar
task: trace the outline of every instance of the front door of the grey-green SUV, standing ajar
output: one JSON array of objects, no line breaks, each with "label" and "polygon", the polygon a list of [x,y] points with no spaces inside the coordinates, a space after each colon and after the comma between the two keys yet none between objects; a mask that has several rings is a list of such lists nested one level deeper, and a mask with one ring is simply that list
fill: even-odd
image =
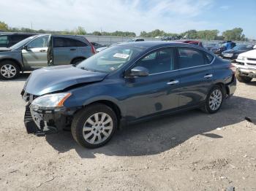
[{"label": "front door of the grey-green SUV, standing ajar", "polygon": [[47,50],[50,35],[33,39],[22,50],[23,63],[29,69],[39,69],[48,66]]}]

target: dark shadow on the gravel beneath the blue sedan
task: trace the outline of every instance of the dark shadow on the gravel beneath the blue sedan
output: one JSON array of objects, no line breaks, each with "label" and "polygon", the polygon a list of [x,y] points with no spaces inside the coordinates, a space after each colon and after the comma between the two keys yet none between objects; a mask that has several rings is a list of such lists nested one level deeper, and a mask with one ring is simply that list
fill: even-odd
[{"label": "dark shadow on the gravel beneath the blue sedan", "polygon": [[83,158],[93,158],[95,153],[109,156],[156,155],[197,135],[205,136],[209,141],[222,139],[222,136],[209,131],[244,121],[244,117],[255,112],[255,108],[255,100],[233,96],[225,101],[217,114],[192,110],[121,128],[108,144],[98,149],[80,147],[72,139],[71,132],[65,131],[47,135],[46,141],[59,152],[75,149]]}]

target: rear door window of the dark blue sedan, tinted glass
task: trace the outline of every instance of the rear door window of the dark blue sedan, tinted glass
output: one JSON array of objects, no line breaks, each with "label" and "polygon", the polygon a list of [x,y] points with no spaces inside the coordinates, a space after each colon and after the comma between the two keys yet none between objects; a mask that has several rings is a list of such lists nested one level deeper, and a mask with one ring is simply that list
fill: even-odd
[{"label": "rear door window of the dark blue sedan, tinted glass", "polygon": [[178,47],[178,63],[180,69],[206,64],[203,52],[189,47]]}]

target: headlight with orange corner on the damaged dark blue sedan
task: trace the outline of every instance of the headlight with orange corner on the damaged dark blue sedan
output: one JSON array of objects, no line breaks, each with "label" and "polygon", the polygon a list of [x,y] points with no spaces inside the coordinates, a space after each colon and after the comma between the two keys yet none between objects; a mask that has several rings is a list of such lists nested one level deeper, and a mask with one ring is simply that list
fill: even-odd
[{"label": "headlight with orange corner on the damaged dark blue sedan", "polygon": [[54,93],[49,95],[42,95],[31,103],[31,109],[56,109],[63,106],[64,101],[69,98],[71,93]]}]

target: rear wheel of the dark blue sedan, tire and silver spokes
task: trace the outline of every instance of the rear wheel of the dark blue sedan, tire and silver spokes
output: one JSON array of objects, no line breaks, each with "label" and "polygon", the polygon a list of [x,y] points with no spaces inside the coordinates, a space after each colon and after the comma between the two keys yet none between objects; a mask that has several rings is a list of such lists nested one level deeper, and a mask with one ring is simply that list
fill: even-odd
[{"label": "rear wheel of the dark blue sedan, tire and silver spokes", "polygon": [[224,94],[222,88],[218,85],[214,85],[214,87],[210,90],[206,98],[206,104],[202,108],[203,112],[206,113],[216,113],[222,106],[222,101],[224,98]]}]

